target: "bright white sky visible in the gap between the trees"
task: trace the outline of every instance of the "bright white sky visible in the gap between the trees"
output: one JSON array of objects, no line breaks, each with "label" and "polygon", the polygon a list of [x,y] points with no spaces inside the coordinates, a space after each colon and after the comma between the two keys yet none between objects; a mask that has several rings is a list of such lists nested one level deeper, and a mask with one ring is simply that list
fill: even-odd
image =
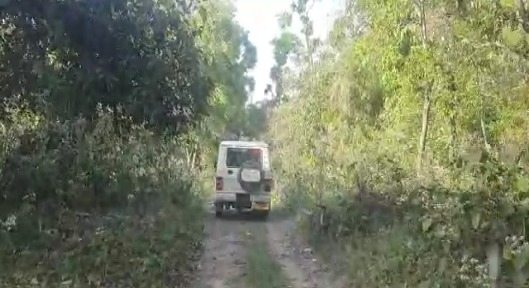
[{"label": "bright white sky visible in the gap between the trees", "polygon": [[[257,65],[250,71],[256,81],[253,103],[270,96],[265,95],[267,84],[271,83],[270,68],[274,64],[273,38],[279,35],[277,15],[290,9],[291,0],[235,0],[237,9],[236,21],[249,32],[250,41],[257,47]],[[332,28],[335,16],[338,14],[343,0],[322,0],[317,2],[309,17],[314,21],[314,34],[325,39]],[[299,22],[294,22],[293,30],[300,31]]]}]

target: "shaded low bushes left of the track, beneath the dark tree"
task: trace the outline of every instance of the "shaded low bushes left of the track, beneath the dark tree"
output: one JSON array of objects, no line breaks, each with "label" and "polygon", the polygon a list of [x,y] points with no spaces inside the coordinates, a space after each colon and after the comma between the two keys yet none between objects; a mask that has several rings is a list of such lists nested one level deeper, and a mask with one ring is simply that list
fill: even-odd
[{"label": "shaded low bushes left of the track, beneath the dark tree", "polygon": [[116,136],[105,114],[14,134],[1,159],[0,285],[187,285],[203,205],[176,141]]}]

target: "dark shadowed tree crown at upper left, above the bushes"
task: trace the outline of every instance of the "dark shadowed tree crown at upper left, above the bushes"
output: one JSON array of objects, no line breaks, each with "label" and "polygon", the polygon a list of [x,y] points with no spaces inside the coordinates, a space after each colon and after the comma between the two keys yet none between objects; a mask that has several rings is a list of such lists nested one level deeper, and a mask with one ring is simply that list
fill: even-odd
[{"label": "dark shadowed tree crown at upper left, above the bushes", "polygon": [[183,130],[206,112],[209,91],[187,7],[11,1],[0,15],[3,110],[25,103],[50,117],[90,117],[101,104],[113,110],[116,126],[130,119]]}]

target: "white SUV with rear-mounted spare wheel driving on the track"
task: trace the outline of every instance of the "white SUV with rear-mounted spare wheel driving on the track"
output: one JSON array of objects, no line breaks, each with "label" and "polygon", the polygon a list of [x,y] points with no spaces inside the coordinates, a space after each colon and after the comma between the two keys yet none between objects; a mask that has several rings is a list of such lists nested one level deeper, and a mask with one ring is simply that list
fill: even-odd
[{"label": "white SUV with rear-mounted spare wheel driving on the track", "polygon": [[258,211],[267,217],[271,209],[273,177],[268,144],[258,141],[222,141],[215,174],[215,215],[229,208]]}]

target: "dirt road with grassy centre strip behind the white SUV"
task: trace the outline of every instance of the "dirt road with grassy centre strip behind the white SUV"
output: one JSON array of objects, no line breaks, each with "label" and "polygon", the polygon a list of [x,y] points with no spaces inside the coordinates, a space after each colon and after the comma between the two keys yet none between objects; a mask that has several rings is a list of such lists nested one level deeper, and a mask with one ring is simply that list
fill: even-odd
[{"label": "dirt road with grassy centre strip behind the white SUV", "polygon": [[231,214],[206,225],[205,251],[194,288],[342,288],[344,281],[295,241],[294,223]]}]

